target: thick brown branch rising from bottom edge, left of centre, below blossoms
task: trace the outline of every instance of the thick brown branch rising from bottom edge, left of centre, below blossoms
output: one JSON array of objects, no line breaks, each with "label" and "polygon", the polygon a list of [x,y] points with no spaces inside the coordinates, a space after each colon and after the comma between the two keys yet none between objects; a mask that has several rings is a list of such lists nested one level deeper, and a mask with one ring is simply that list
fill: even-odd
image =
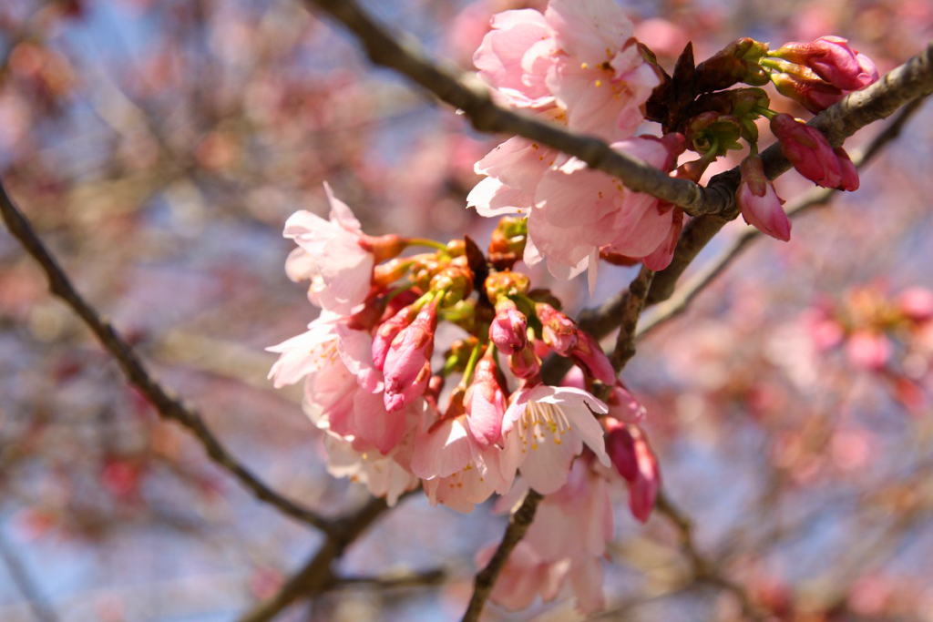
[{"label": "thick brown branch rising from bottom edge, left of centre, below blossoms", "polygon": [[367,530],[376,518],[388,509],[384,499],[371,499],[355,513],[334,521],[338,529],[327,534],[311,560],[291,576],[279,592],[268,601],[259,602],[239,618],[240,622],[266,622],[282,613],[286,607],[301,599],[313,598],[334,586],[338,581],[333,574],[333,563],[346,548]]}]

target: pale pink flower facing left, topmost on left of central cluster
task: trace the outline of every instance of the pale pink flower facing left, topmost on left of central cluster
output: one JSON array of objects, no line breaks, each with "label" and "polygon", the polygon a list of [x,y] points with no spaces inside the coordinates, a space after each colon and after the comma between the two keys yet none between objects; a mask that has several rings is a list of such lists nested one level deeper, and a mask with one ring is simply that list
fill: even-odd
[{"label": "pale pink flower facing left, topmost on left of central cluster", "polygon": [[375,256],[365,246],[359,221],[346,203],[330,201],[330,220],[301,210],[285,222],[285,238],[298,243],[288,256],[286,272],[292,280],[311,279],[308,297],[327,311],[350,315],[369,296]]}]

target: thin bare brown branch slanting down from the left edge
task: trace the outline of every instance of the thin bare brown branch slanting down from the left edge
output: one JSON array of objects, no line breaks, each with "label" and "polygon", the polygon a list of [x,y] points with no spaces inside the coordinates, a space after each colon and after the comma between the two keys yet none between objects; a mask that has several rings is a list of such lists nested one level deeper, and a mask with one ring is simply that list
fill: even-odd
[{"label": "thin bare brown branch slanting down from the left edge", "polygon": [[136,387],[156,408],[160,417],[167,421],[178,422],[195,435],[210,456],[211,460],[230,472],[253,495],[283,514],[296,518],[325,531],[333,532],[336,527],[327,518],[323,518],[310,509],[302,507],[273,491],[252,474],[243,464],[236,461],[220,441],[211,433],[201,418],[201,414],[184,404],[164,389],[149,373],[143,361],[133,352],[126,339],[117,329],[94,310],[71,283],[58,261],[39,239],[35,229],[25,215],[16,207],[7,195],[7,190],[0,182],[0,213],[7,223],[9,232],[16,238],[29,255],[33,256],[49,279],[49,291],[59,297],[75,311],[95,337],[104,346],[104,350],[117,360],[126,379]]}]

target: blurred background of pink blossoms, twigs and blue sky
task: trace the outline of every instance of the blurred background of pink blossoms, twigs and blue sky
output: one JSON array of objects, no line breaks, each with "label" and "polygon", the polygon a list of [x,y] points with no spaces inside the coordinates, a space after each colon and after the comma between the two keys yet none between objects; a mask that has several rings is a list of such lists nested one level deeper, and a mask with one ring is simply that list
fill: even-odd
[{"label": "blurred background of pink blossoms, twigs and blue sky", "polygon": [[[494,12],[544,6],[364,4],[464,69]],[[776,47],[835,34],[884,73],[933,35],[930,0],[622,4],[669,70],[689,40],[702,60],[740,35]],[[367,493],[327,476],[299,391],[266,380],[263,349],[316,314],[285,278],[285,219],[325,214],[327,180],[370,234],[485,245],[494,222],[466,210],[466,193],[495,144],[370,68],[299,0],[0,3],[8,191],[233,453],[328,515]],[[791,242],[758,242],[626,370],[697,546],[772,619],[933,620],[931,170],[927,104],[860,190],[795,222]],[[788,200],[808,187],[794,175],[777,184]],[[697,265],[744,228],[732,223]],[[591,298],[583,283],[532,273],[570,310],[633,274],[601,270]],[[669,523],[637,524],[624,491],[618,502],[599,619],[740,618],[731,595],[690,577]],[[489,510],[404,501],[342,572],[442,567],[447,581],[341,589],[282,619],[459,619],[473,553],[503,529]],[[160,422],[0,234],[0,620],[230,620],[319,543]],[[572,602],[486,616],[580,619]]]}]

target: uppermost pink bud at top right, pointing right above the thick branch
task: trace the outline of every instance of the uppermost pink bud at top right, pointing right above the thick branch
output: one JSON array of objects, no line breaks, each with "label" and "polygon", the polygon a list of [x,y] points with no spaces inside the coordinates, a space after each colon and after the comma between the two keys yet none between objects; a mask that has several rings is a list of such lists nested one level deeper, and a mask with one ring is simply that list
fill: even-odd
[{"label": "uppermost pink bud at top right, pointing right above the thick branch", "polygon": [[805,65],[842,90],[860,90],[878,81],[878,69],[841,36],[821,36],[810,43],[786,43],[769,56]]}]

